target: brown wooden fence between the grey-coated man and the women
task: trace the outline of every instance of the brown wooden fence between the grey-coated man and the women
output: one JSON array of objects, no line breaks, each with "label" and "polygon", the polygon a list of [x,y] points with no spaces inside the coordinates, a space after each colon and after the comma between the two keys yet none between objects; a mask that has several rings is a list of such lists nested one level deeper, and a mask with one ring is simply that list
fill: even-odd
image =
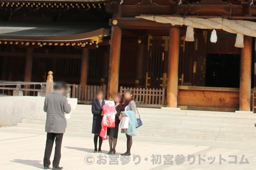
[{"label": "brown wooden fence between the grey-coated man and the women", "polygon": [[82,86],[77,85],[71,88],[72,98],[77,98],[80,104],[90,104],[96,99],[96,91],[101,88],[106,94],[106,86]]}]

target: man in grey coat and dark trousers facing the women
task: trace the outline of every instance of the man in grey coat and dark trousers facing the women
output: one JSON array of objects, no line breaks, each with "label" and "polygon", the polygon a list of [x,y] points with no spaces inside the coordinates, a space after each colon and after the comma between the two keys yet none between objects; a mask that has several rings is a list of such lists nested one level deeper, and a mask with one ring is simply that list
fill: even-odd
[{"label": "man in grey coat and dark trousers facing the women", "polygon": [[53,159],[53,170],[63,169],[59,167],[61,157],[61,143],[63,134],[67,128],[65,113],[71,112],[71,105],[68,104],[67,98],[64,96],[67,91],[65,82],[56,82],[53,85],[53,92],[46,96],[44,101],[44,112],[47,112],[46,118],[46,150],[44,151],[44,169],[49,169],[51,164],[51,152],[53,142],[55,141],[55,155]]}]

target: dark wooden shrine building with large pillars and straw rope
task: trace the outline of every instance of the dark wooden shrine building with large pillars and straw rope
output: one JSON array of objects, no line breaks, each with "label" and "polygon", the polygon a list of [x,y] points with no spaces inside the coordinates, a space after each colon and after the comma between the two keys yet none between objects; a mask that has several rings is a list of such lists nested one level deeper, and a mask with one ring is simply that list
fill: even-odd
[{"label": "dark wooden shrine building with large pillars and straw rope", "polygon": [[108,99],[132,88],[138,104],[250,112],[255,22],[250,0],[2,0],[0,81],[51,70]]}]

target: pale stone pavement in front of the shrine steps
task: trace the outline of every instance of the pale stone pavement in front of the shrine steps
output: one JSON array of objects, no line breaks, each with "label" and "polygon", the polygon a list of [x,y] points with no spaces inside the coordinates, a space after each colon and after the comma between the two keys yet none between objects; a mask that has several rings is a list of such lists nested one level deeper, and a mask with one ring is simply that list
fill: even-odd
[{"label": "pale stone pavement in front of the shrine steps", "polygon": [[[76,134],[64,135],[60,165],[68,170],[96,168],[122,170],[237,170],[255,169],[256,167],[256,145],[254,143],[201,141],[193,139],[146,141],[145,138],[134,137],[132,155],[130,158],[127,158],[119,155],[126,148],[126,142],[123,139],[121,138],[118,141],[117,155],[109,156],[106,155],[109,148],[108,141],[104,141],[103,143],[102,154],[94,154],[92,152],[92,137],[77,137]],[[43,130],[33,131],[31,129],[17,127],[0,128],[0,169],[42,169],[45,141],[46,135]],[[179,156],[177,156],[178,154]],[[152,161],[152,158],[154,158],[154,161]],[[173,165],[171,165],[172,161]],[[118,165],[115,165],[117,163]],[[181,164],[177,165],[178,163]]]}]

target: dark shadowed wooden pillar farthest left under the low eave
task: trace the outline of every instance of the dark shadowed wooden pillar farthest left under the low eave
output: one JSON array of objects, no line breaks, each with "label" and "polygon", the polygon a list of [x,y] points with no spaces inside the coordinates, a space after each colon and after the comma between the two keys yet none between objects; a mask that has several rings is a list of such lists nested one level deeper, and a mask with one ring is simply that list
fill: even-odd
[{"label": "dark shadowed wooden pillar farthest left under the low eave", "polygon": [[25,68],[24,82],[31,82],[32,62],[33,62],[32,53],[33,53],[33,48],[29,46],[27,48],[27,54],[26,54],[26,68]]}]

